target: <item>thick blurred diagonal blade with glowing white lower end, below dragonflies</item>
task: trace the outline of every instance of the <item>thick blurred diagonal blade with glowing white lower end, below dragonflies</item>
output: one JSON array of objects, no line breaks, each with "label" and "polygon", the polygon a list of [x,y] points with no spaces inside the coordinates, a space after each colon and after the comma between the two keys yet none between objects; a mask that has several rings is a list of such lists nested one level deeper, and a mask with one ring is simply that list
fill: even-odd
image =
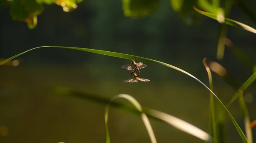
[{"label": "thick blurred diagonal blade with glowing white lower end, below dragonflies", "polygon": [[[92,94],[87,94],[87,93],[83,93],[80,91],[76,91],[73,90],[71,88],[66,88],[66,87],[57,87],[54,89],[55,93],[58,94],[62,94],[62,95],[68,95],[68,96],[72,96],[72,97],[76,97],[76,98],[81,98],[83,100],[86,101],[93,101],[99,104],[103,104],[105,105],[110,105],[111,107],[116,107],[117,109],[125,109],[125,111],[131,112],[135,115],[142,115],[142,112],[145,113],[145,115],[148,116],[148,118],[154,119],[156,121],[161,121],[164,123],[168,123],[171,126],[174,126],[175,128],[186,132],[190,135],[193,135],[195,137],[198,137],[201,140],[205,140],[207,142],[209,142],[209,140],[212,139],[212,137],[209,136],[209,134],[207,134],[206,132],[204,132],[203,130],[197,128],[196,126],[193,126],[190,123],[187,123],[186,121],[183,121],[179,118],[176,118],[172,115],[166,114],[164,112],[160,112],[154,109],[150,109],[147,107],[141,107],[138,104],[135,104],[137,108],[140,109],[140,111],[138,111],[137,109],[132,108],[131,106],[128,106],[126,104],[121,104],[120,102],[116,102],[116,101],[111,101],[110,104],[110,99],[99,96],[99,95],[92,95]],[[124,94],[121,94],[121,96],[123,96]],[[116,96],[119,97],[120,95]],[[126,95],[125,95],[126,96]],[[127,95],[128,96],[128,95]],[[133,100],[134,103],[136,103],[137,101],[134,101],[135,99],[133,97],[129,97],[131,98],[131,100]],[[142,110],[141,110],[142,109]],[[108,139],[107,139],[108,140]]]}]

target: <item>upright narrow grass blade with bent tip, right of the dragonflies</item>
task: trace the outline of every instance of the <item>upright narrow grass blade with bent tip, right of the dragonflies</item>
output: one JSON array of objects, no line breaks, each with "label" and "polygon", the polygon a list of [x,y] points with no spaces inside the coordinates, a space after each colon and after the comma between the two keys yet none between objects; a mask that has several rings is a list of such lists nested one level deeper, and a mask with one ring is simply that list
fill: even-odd
[{"label": "upright narrow grass blade with bent tip, right of the dragonflies", "polygon": [[[212,85],[212,73],[206,63],[206,58],[203,59],[203,64],[204,67],[208,73],[208,78],[209,78],[209,87],[210,90],[213,91],[213,85]],[[216,131],[216,126],[215,126],[215,107],[214,107],[214,96],[212,93],[210,93],[210,98],[209,98],[210,104],[209,104],[209,130],[210,130],[210,135],[213,138],[213,143],[217,143],[217,131]]]}]

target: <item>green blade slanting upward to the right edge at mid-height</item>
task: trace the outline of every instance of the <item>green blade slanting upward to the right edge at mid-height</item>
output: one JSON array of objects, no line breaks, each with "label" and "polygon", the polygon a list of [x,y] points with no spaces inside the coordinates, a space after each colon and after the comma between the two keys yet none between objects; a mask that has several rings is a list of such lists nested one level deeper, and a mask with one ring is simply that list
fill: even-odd
[{"label": "green blade slanting upward to the right edge at mid-height", "polygon": [[255,79],[256,79],[256,72],[254,72],[253,75],[251,75],[250,78],[244,82],[244,84],[239,88],[239,90],[236,91],[236,93],[232,96],[232,98],[228,102],[227,107],[229,107],[234,101],[236,101],[236,99],[239,97],[239,91],[246,90],[250,86],[250,84],[252,84],[253,81],[255,81]]}]

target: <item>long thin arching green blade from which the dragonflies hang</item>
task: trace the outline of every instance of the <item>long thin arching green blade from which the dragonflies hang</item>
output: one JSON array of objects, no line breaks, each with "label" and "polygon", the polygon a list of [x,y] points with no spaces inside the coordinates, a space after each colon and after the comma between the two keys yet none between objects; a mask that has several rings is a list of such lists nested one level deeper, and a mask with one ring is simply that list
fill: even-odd
[{"label": "long thin arching green blade from which the dragonflies hang", "polygon": [[[102,54],[102,55],[107,55],[107,56],[113,56],[113,57],[118,57],[118,58],[122,58],[122,59],[135,59],[135,60],[140,60],[140,61],[145,61],[145,62],[152,62],[152,63],[156,63],[156,64],[162,64],[166,67],[170,67],[170,68],[173,68],[175,70],[178,70],[182,73],[185,73],[186,75],[192,77],[193,79],[197,80],[198,82],[200,82],[201,84],[204,85],[204,87],[206,87],[217,99],[218,101],[222,104],[222,106],[226,109],[228,115],[230,116],[231,120],[233,121],[234,125],[236,126],[236,129],[238,130],[240,136],[242,137],[242,139],[244,140],[245,143],[248,142],[247,138],[245,137],[244,133],[242,132],[241,128],[239,127],[239,125],[236,123],[236,120],[233,118],[233,116],[231,115],[231,113],[228,111],[228,109],[225,107],[225,105],[221,102],[221,100],[202,82],[200,81],[199,79],[197,79],[195,76],[193,76],[192,74],[186,72],[185,70],[181,70],[180,68],[178,67],[175,67],[173,65],[170,65],[170,64],[166,64],[164,62],[160,62],[160,61],[157,61],[157,60],[154,60],[154,59],[148,59],[148,58],[143,58],[143,57],[140,57],[140,56],[134,56],[134,55],[128,55],[128,54],[124,54],[124,53],[116,53],[116,52],[110,52],[110,51],[106,51],[106,50],[96,50],[96,49],[89,49],[89,48],[76,48],[76,47],[64,47],[64,46],[41,46],[41,47],[36,47],[36,48],[32,48],[30,50],[34,50],[34,49],[37,49],[37,48],[49,48],[49,47],[52,47],[52,48],[67,48],[67,49],[73,49],[73,50],[82,50],[82,51],[87,51],[87,52],[91,52],[91,53],[98,53],[98,54]],[[26,53],[30,50],[26,50],[22,53],[19,53],[15,56],[12,56],[11,58],[3,61],[3,62],[0,62],[0,65],[8,62],[9,60],[12,60],[14,58],[16,58],[17,56],[20,56],[22,55],[23,53]]]}]

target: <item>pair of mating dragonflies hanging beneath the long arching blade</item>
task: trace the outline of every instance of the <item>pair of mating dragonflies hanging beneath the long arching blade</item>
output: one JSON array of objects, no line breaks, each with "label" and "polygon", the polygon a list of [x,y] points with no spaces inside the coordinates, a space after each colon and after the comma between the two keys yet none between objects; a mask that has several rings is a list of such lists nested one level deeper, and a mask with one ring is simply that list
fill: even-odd
[{"label": "pair of mating dragonflies hanging beneath the long arching blade", "polygon": [[[126,70],[132,70],[131,72],[131,79],[127,79],[124,82],[138,82],[140,81],[150,81],[149,79],[143,79],[139,78],[140,76],[140,69],[143,69],[146,67],[146,64],[143,64],[142,62],[136,63],[134,59],[131,59],[131,64],[122,65],[122,68],[125,68]],[[138,71],[138,74],[136,73]]]}]

